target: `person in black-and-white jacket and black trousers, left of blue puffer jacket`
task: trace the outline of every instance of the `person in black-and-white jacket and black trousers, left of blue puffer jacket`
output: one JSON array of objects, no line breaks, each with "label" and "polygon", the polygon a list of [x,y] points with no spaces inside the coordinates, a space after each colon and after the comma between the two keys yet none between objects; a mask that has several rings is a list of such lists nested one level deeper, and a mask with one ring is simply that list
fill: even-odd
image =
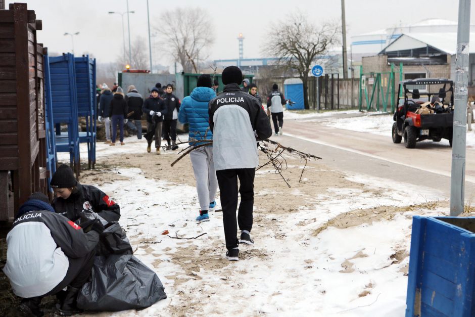
[{"label": "person in black-and-white jacket and black trousers, left of blue puffer jacket", "polygon": [[[180,111],[181,102],[172,93],[173,85],[169,83],[167,84],[165,94],[162,96],[168,110],[163,118],[162,131],[164,139],[167,140],[167,150],[178,149],[178,146],[176,145],[176,120],[178,119],[178,112]],[[173,144],[173,146],[170,146],[170,142]]]}]

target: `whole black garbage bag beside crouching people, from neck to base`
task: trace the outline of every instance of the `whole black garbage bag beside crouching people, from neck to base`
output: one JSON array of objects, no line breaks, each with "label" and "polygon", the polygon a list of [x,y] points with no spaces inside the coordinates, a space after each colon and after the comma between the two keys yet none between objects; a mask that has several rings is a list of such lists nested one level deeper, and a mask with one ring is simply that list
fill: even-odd
[{"label": "whole black garbage bag beside crouching people, from neck to base", "polygon": [[[82,218],[94,217],[103,220],[97,213],[87,213]],[[132,246],[119,223],[106,224],[96,254],[91,279],[83,285],[77,297],[80,309],[141,309],[167,298],[155,272],[133,256]]]}]

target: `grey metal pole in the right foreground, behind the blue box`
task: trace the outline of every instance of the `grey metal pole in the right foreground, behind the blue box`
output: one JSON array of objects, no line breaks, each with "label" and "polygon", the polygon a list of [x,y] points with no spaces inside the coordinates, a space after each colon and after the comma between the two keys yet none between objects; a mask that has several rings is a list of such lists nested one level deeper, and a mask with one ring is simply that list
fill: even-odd
[{"label": "grey metal pole in the right foreground, behind the blue box", "polygon": [[452,135],[452,175],[450,215],[458,216],[465,206],[465,146],[468,98],[468,44],[470,39],[470,0],[458,2],[457,57],[455,58],[454,127]]}]

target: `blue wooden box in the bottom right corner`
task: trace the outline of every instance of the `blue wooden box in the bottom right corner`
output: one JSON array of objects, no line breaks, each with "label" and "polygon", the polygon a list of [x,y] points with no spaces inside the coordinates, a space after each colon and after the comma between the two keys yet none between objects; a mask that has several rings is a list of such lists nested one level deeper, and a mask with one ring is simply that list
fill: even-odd
[{"label": "blue wooden box in the bottom right corner", "polygon": [[[471,227],[471,231],[465,227]],[[406,317],[473,316],[475,234],[472,231],[475,231],[475,218],[414,216]]]}]

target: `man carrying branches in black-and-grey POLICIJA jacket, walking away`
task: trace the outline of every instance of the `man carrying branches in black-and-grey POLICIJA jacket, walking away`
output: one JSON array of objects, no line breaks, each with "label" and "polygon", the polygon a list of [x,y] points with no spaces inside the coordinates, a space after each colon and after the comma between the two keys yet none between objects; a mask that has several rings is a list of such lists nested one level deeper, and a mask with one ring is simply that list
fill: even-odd
[{"label": "man carrying branches in black-and-grey POLICIJA jacket, walking away", "polygon": [[[213,132],[213,160],[221,193],[226,257],[239,260],[239,243],[254,244],[250,232],[254,205],[254,175],[259,164],[256,145],[272,135],[269,119],[261,103],[242,92],[243,74],[236,66],[223,70],[224,90],[209,103],[210,128]],[[237,240],[237,179],[241,203],[237,224],[241,239]]]}]

